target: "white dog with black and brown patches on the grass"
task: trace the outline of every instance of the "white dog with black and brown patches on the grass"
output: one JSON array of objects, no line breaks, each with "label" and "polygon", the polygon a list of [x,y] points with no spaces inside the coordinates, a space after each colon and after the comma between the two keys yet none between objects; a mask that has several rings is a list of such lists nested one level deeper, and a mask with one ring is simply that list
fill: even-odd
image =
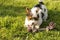
[{"label": "white dog with black and brown patches on the grass", "polygon": [[29,31],[37,31],[43,21],[47,20],[48,11],[43,3],[43,0],[39,0],[39,3],[32,9],[26,8],[25,27]]}]

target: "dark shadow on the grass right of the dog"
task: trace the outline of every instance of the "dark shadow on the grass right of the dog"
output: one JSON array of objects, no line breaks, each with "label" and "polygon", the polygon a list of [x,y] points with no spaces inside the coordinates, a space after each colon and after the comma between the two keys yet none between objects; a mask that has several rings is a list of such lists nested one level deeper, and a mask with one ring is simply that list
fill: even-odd
[{"label": "dark shadow on the grass right of the dog", "polygon": [[48,11],[48,19],[46,22],[43,22],[41,27],[44,28],[44,27],[48,26],[51,21],[56,23],[54,30],[60,31],[60,11],[58,11],[57,9],[49,10]]}]

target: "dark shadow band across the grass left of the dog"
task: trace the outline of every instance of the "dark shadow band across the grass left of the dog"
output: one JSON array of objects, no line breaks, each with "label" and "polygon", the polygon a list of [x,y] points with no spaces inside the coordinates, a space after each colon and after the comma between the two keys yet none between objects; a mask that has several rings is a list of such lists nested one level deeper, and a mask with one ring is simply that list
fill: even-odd
[{"label": "dark shadow band across the grass left of the dog", "polygon": [[0,16],[24,16],[25,7],[0,5]]}]

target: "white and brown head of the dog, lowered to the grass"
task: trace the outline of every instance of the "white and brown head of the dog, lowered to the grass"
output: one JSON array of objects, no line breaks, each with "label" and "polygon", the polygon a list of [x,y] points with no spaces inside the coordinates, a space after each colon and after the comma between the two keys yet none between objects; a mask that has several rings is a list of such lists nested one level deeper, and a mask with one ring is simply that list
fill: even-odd
[{"label": "white and brown head of the dog, lowered to the grass", "polygon": [[33,29],[36,25],[38,25],[40,11],[41,10],[39,8],[32,8],[31,10],[26,8],[26,27],[31,27],[31,29]]}]

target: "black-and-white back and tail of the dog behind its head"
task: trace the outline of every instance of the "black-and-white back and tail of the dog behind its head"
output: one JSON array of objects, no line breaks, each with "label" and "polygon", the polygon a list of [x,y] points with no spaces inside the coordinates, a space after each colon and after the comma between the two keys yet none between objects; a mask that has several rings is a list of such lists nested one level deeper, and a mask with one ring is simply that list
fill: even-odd
[{"label": "black-and-white back and tail of the dog behind its head", "polygon": [[32,10],[34,10],[35,8],[40,8],[41,9],[41,15],[44,21],[46,21],[47,17],[48,17],[48,11],[46,6],[44,5],[43,0],[39,0],[39,3],[37,5],[35,5]]}]

